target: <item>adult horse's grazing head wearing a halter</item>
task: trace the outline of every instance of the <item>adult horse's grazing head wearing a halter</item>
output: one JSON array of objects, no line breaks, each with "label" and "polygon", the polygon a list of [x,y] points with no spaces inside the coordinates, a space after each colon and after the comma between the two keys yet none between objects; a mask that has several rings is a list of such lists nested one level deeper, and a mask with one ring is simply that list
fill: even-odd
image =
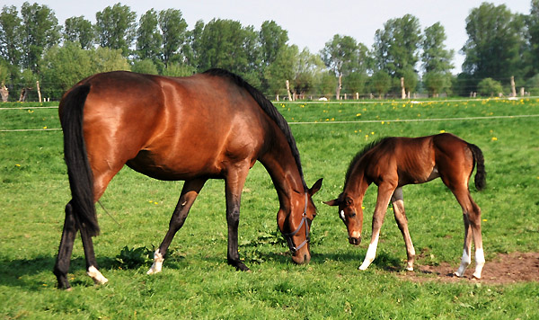
[{"label": "adult horse's grazing head wearing a halter", "polygon": [[297,264],[311,260],[310,231],[316,217],[313,195],[320,190],[321,186],[322,179],[315,182],[313,187],[305,193],[294,194],[291,199],[290,214],[287,215],[283,209],[278,211],[278,227],[287,240],[288,248],[292,253],[292,261]]}]

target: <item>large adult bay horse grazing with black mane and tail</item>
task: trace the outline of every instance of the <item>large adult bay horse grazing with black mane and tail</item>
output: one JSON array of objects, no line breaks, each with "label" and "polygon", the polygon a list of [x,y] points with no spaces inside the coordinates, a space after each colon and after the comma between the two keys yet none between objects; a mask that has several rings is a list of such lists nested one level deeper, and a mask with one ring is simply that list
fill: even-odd
[{"label": "large adult bay horse grazing with black mane and tail", "polygon": [[249,269],[238,253],[243,184],[259,160],[278,193],[277,223],[296,263],[309,262],[309,227],[316,215],[311,197],[322,179],[307,188],[296,141],[287,121],[259,91],[222,69],[189,77],[110,72],[75,84],[62,98],[59,116],[72,200],[54,273],[66,278],[77,230],[88,275],[98,271],[92,237],[99,234],[94,204],[124,164],[160,180],[184,180],[163,243],[148,273],[161,271],[173,236],[208,179],[225,180],[227,261]]}]

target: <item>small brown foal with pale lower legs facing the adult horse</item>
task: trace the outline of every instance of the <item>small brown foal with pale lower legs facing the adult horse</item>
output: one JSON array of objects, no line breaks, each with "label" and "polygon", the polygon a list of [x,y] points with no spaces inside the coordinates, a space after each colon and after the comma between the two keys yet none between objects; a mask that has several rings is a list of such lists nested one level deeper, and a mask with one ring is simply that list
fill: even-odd
[{"label": "small brown foal with pale lower legs facing the adult horse", "polygon": [[383,138],[360,151],[349,165],[344,191],[340,193],[339,198],[325,202],[330,206],[339,206],[340,218],[348,228],[349,243],[359,244],[363,227],[363,197],[372,182],[378,186],[371,242],[359,269],[366,270],[376,257],[380,229],[391,200],[395,220],[401,229],[408,253],[406,269],[413,270],[415,250],[404,212],[402,186],[429,182],[440,177],[455,195],[464,214],[464,253],[455,275],[463,277],[466,267],[471,262],[473,236],[476,263],[473,276],[480,279],[485,263],[481,209],[473,201],[468,189],[475,164],[477,164],[475,187],[481,191],[486,183],[481,149],[449,133],[421,138]]}]

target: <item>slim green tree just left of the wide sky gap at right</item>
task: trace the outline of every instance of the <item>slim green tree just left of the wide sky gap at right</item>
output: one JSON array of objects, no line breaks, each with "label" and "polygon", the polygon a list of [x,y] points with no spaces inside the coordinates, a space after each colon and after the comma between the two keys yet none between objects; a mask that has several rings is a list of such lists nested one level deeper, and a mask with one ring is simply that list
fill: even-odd
[{"label": "slim green tree just left of the wide sky gap at right", "polygon": [[446,31],[440,22],[436,22],[425,29],[422,41],[423,53],[421,55],[423,70],[426,73],[447,73],[453,69],[451,60],[455,56],[454,50],[446,49]]}]

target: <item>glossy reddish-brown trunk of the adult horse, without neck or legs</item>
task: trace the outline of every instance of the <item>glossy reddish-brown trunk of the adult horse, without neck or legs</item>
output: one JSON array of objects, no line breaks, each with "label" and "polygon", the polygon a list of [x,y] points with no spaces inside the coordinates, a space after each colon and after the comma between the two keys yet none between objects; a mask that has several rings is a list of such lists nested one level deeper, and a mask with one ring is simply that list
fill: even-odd
[{"label": "glossy reddish-brown trunk of the adult horse, without neck or legs", "polygon": [[127,163],[163,180],[218,176],[231,162],[254,164],[263,144],[263,112],[224,77],[110,72],[81,84],[91,86],[84,139],[97,171]]}]

